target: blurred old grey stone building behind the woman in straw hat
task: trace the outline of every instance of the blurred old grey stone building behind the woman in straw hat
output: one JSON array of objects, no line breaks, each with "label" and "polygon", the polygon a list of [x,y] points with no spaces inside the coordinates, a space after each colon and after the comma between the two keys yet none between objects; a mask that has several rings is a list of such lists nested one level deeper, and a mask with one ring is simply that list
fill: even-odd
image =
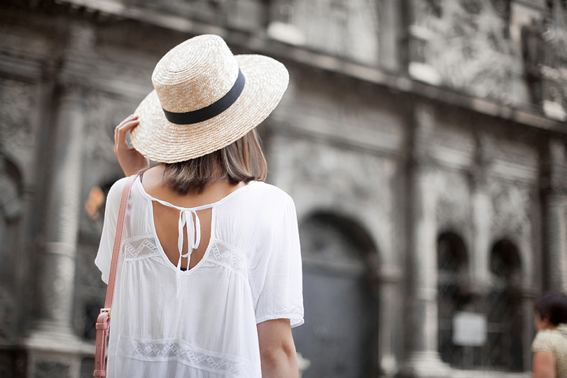
[{"label": "blurred old grey stone building behind the woman in straw hat", "polygon": [[204,33],[290,71],[259,130],[304,378],[528,376],[533,299],[567,288],[565,3],[1,1],[0,377],[92,376],[113,129]]}]

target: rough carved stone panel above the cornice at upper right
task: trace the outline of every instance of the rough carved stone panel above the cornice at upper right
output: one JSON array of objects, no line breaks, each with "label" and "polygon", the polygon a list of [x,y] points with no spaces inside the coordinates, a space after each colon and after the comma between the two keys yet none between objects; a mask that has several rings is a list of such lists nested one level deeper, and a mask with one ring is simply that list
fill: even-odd
[{"label": "rough carved stone panel above the cornice at upper right", "polygon": [[505,3],[413,0],[409,73],[475,97],[514,97],[521,54],[507,32]]}]

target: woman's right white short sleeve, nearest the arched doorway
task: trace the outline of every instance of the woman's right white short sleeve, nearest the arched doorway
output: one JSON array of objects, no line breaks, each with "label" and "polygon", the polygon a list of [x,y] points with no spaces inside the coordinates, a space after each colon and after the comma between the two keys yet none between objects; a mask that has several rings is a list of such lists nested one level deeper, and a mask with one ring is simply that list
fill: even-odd
[{"label": "woman's right white short sleeve, nearest the arched doorway", "polygon": [[288,318],[292,327],[303,323],[303,283],[297,214],[291,197],[272,198],[253,279],[258,287],[256,323]]}]

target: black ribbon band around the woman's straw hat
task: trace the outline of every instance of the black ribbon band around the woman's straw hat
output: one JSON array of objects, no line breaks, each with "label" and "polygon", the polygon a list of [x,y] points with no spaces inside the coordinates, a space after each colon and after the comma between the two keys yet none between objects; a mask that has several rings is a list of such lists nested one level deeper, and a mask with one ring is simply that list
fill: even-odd
[{"label": "black ribbon band around the woman's straw hat", "polygon": [[167,111],[163,109],[165,113],[165,118],[171,123],[176,125],[191,125],[193,123],[200,123],[206,120],[210,120],[213,117],[218,116],[223,113],[226,109],[230,108],[232,104],[236,102],[242,90],[244,89],[244,75],[242,71],[238,69],[238,77],[235,85],[225,94],[221,99],[214,102],[213,104],[206,106],[202,109],[197,109],[196,111],[188,111],[186,113],[173,113],[172,111]]}]

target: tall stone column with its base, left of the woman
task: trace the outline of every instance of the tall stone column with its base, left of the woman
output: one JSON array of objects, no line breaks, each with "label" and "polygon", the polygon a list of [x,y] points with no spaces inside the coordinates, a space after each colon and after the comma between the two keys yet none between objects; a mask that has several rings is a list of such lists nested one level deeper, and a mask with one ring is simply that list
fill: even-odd
[{"label": "tall stone column with its base, left of the woman", "polygon": [[59,85],[57,117],[45,146],[50,177],[46,188],[45,242],[39,246],[38,318],[26,340],[28,377],[78,378],[80,360],[94,345],[74,335],[72,316],[76,248],[80,223],[84,90],[90,74],[94,31],[77,23],[69,29]]}]

